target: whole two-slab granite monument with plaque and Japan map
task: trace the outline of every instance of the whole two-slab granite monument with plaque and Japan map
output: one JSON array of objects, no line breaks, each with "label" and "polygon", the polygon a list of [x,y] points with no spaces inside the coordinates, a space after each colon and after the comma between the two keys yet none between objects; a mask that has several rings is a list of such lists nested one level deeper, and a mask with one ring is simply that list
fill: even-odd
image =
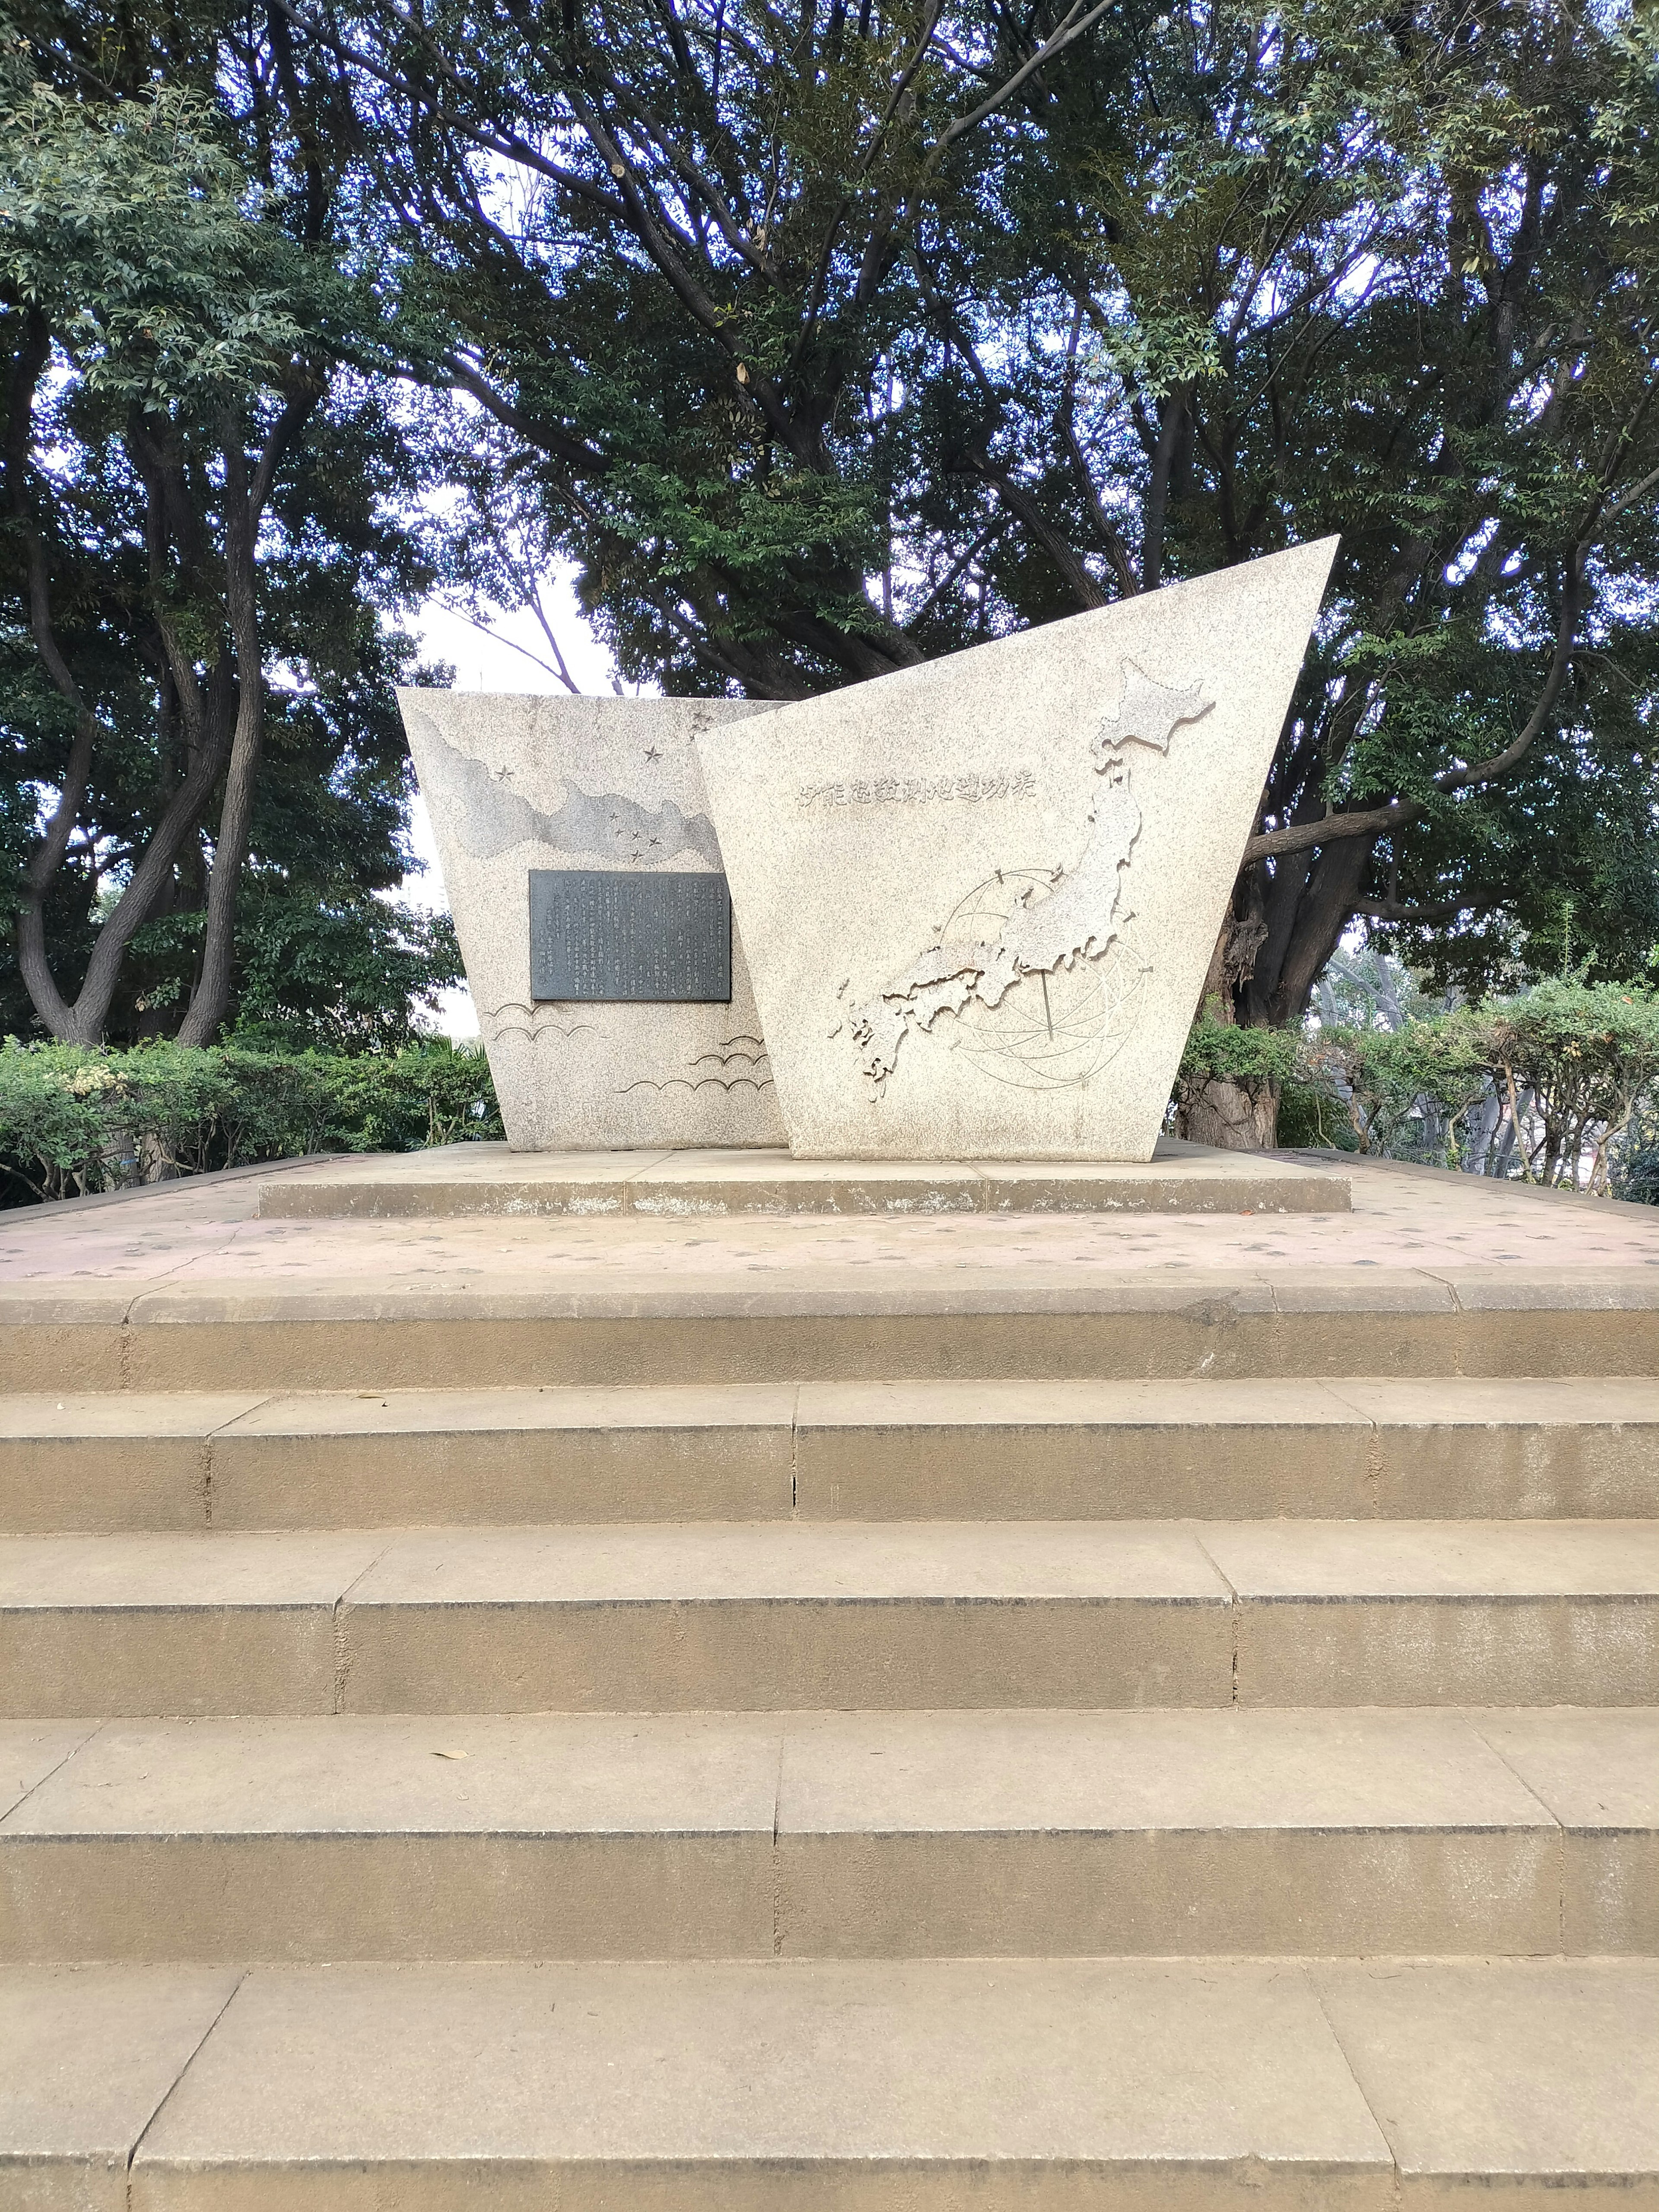
[{"label": "whole two-slab granite monument with plaque and Japan map", "polygon": [[509,1146],[1148,1161],[1334,553],[776,708],[400,692]]}]

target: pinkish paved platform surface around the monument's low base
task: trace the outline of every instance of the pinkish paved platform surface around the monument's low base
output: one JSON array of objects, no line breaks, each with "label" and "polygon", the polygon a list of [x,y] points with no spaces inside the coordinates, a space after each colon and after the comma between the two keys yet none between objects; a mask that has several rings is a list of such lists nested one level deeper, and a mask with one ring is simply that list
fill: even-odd
[{"label": "pinkish paved platform surface around the monument's low base", "polygon": [[469,1217],[261,1219],[248,1168],[113,1201],[15,1210],[0,1223],[0,1287],[776,1290],[860,1296],[1088,1290],[1124,1279],[1292,1285],[1310,1272],[1356,1294],[1595,1292],[1659,1267],[1659,1208],[1482,1177],[1294,1152],[1349,1181],[1352,1212],[1298,1214],[770,1214],[726,1219]]}]

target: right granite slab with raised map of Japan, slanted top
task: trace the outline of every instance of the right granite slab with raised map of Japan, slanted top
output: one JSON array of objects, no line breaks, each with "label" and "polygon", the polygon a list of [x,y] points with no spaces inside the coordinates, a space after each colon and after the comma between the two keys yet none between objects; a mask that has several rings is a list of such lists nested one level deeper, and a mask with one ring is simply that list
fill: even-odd
[{"label": "right granite slab with raised map of Japan, slanted top", "polygon": [[699,732],[796,1155],[1152,1157],[1334,551]]}]

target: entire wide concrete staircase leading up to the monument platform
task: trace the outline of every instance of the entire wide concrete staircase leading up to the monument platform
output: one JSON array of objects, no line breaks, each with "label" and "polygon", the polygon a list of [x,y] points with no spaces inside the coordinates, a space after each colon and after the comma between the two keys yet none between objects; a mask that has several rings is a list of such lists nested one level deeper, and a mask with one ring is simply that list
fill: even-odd
[{"label": "entire wide concrete staircase leading up to the monument platform", "polygon": [[0,1327],[0,2208],[1659,2205],[1659,1310]]}]

